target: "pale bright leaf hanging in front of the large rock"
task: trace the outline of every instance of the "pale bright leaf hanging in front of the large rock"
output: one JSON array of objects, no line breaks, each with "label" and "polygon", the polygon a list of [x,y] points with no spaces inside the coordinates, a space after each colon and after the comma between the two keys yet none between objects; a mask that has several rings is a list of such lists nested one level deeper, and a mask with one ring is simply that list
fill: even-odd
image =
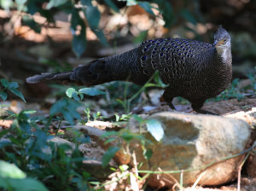
[{"label": "pale bright leaf hanging in front of the large rock", "polygon": [[160,142],[160,140],[164,137],[165,132],[158,120],[155,119],[147,119],[146,120],[147,129],[154,136],[155,140]]}]

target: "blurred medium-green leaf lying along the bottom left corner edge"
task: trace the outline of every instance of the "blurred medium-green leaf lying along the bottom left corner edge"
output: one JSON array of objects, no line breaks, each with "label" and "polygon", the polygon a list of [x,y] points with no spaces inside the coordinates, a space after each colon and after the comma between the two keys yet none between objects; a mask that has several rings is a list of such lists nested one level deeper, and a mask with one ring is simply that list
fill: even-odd
[{"label": "blurred medium-green leaf lying along the bottom left corner edge", "polygon": [[42,182],[34,180],[32,178],[26,179],[13,179],[13,178],[0,178],[0,188],[6,188],[8,190],[19,191],[48,191]]}]

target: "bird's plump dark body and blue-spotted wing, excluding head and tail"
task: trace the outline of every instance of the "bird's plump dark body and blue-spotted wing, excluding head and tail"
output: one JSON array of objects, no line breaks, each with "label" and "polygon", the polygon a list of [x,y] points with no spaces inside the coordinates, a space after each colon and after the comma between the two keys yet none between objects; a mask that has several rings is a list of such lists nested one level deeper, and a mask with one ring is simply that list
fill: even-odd
[{"label": "bird's plump dark body and blue-spotted wing, excluding head and tail", "polygon": [[[230,83],[231,63],[224,67],[225,63],[219,60],[210,43],[160,38],[141,43],[138,51],[143,73],[151,76],[158,70],[162,81],[170,84],[173,97],[209,98],[218,95]],[[212,84],[214,81],[216,83]]]}]

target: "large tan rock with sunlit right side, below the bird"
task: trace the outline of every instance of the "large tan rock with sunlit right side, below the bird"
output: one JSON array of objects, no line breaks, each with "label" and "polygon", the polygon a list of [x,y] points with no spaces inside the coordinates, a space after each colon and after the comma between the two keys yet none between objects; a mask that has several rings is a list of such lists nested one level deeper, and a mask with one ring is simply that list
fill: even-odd
[{"label": "large tan rock with sunlit right side, below the bird", "polygon": [[[241,119],[170,112],[142,117],[160,121],[165,135],[161,142],[156,142],[146,130],[146,126],[143,126],[146,138],[154,144],[149,146],[153,150],[151,159],[148,164],[144,163],[140,170],[158,171],[158,167],[162,171],[197,169],[218,159],[240,153],[250,139],[251,128]],[[139,124],[135,119],[130,120],[129,129],[134,133],[139,132]],[[141,163],[145,158],[138,143],[137,140],[132,140],[130,148],[135,150],[137,162]],[[239,155],[211,165],[198,183],[219,185],[236,179],[237,167],[243,158],[244,155]],[[184,172],[183,184],[193,184],[203,171],[205,170]],[[179,173],[172,176],[180,182]],[[153,188],[172,187],[174,183],[166,174],[153,175],[148,182]]]}]

